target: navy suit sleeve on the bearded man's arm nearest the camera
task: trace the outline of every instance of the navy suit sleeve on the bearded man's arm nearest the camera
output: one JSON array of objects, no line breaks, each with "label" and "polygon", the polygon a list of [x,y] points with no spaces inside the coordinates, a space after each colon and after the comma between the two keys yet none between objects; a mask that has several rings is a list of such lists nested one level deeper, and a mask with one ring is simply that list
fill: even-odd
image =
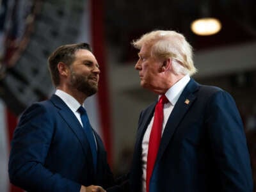
[{"label": "navy suit sleeve on the bearded man's arm nearest the camera", "polygon": [[[80,184],[50,172],[45,158],[54,134],[54,112],[33,104],[15,129],[9,159],[12,184],[26,191],[79,191]],[[60,159],[61,161],[61,159]]]}]

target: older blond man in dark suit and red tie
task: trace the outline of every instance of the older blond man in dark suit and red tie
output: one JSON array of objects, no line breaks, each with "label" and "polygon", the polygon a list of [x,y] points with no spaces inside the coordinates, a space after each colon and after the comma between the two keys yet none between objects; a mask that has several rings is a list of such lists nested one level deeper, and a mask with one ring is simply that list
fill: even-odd
[{"label": "older blond man in dark suit and red tie", "polygon": [[131,191],[252,191],[250,157],[234,99],[196,83],[191,45],[175,31],[132,43],[143,88],[159,99],[141,112]]}]

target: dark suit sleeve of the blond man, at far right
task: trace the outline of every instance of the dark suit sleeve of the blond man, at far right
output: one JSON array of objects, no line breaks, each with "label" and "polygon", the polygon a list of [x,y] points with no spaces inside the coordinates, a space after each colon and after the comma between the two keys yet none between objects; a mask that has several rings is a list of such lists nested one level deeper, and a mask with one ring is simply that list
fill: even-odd
[{"label": "dark suit sleeve of the blond man, at far right", "polygon": [[212,156],[220,175],[220,191],[252,191],[252,171],[243,123],[234,99],[214,93],[207,104],[207,127]]}]

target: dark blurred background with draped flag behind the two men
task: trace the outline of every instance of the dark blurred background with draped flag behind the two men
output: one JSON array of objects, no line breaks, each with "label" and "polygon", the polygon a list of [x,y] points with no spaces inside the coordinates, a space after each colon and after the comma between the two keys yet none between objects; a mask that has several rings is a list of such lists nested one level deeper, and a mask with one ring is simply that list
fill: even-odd
[{"label": "dark blurred background with draped flag behind the two men", "polygon": [[[21,191],[8,180],[13,130],[27,106],[54,92],[47,70],[49,54],[74,42],[92,44],[99,61],[99,93],[86,100],[86,106],[113,172],[127,172],[140,111],[157,99],[140,87],[134,70],[138,50],[131,41],[153,29],[184,34],[195,51],[196,81],[232,94],[254,158],[256,1],[1,0],[0,4],[0,191]],[[195,35],[191,22],[202,16],[218,18],[220,32]]]}]

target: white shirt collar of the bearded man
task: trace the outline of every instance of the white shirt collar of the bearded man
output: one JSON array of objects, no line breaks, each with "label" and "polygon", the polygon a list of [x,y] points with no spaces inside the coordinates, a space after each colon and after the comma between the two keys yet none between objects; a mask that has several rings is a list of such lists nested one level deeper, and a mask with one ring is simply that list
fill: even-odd
[{"label": "white shirt collar of the bearded man", "polygon": [[74,97],[66,92],[56,90],[55,95],[58,95],[73,112],[76,112],[77,109],[81,106],[81,104]]}]

